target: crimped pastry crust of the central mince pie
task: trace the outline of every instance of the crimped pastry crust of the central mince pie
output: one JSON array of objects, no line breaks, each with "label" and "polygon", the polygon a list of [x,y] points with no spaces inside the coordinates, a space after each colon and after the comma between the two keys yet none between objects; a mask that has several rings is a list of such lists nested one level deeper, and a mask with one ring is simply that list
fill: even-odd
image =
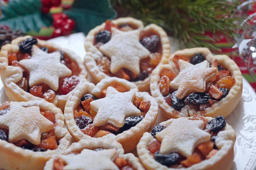
[{"label": "crimped pastry crust of the central mince pie", "polygon": [[[64,116],[67,124],[67,128],[70,131],[71,135],[79,141],[81,139],[90,139],[92,137],[85,135],[79,127],[76,125],[74,119],[74,110],[79,105],[81,97],[90,93],[97,98],[102,96],[101,91],[108,87],[111,82],[116,82],[123,87],[126,87],[129,91],[135,90],[138,91],[136,86],[128,82],[125,79],[119,79],[116,77],[111,77],[108,79],[103,79],[96,86],[92,83],[84,82],[83,85],[80,85],[75,91],[72,92],[72,95],[67,99],[67,104],[65,106]],[[145,118],[138,123],[136,126],[131,127],[131,129],[124,131],[116,135],[116,140],[121,143],[124,147],[125,153],[128,153],[136,148],[137,143],[139,142],[141,136],[144,132],[149,131],[153,128],[154,123],[157,119],[158,113],[158,104],[147,92],[137,92],[136,96],[140,99],[147,99],[150,101],[151,105],[149,111],[146,113]],[[108,135],[107,135],[108,136]]]}]

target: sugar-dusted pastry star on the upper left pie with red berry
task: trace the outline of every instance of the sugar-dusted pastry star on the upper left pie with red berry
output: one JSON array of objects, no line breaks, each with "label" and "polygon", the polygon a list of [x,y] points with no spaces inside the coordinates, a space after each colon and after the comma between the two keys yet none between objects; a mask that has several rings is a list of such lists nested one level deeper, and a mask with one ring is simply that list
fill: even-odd
[{"label": "sugar-dusted pastry star on the upper left pie with red berry", "polygon": [[20,60],[20,65],[29,71],[29,86],[46,82],[52,90],[58,90],[60,77],[69,77],[72,71],[61,64],[61,54],[46,53],[36,45],[32,46],[31,59]]}]

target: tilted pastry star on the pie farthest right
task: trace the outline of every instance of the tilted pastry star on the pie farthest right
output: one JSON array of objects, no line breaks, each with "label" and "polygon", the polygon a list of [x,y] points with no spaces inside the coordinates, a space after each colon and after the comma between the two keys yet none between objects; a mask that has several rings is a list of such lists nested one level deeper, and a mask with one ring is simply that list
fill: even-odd
[{"label": "tilted pastry star on the pie farthest right", "polygon": [[170,82],[170,88],[178,89],[177,97],[183,99],[193,92],[204,92],[206,82],[215,77],[218,69],[208,68],[209,62],[205,60],[196,65],[192,65],[179,59],[180,73]]}]

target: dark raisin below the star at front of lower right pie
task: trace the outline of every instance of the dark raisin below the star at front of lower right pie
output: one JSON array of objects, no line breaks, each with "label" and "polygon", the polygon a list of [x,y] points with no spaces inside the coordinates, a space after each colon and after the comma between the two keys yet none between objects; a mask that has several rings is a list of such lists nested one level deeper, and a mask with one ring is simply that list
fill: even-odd
[{"label": "dark raisin below the star at front of lower right pie", "polygon": [[166,165],[167,167],[175,165],[179,160],[180,156],[177,153],[168,153],[162,155],[160,151],[154,153],[155,160],[158,161],[160,164]]}]

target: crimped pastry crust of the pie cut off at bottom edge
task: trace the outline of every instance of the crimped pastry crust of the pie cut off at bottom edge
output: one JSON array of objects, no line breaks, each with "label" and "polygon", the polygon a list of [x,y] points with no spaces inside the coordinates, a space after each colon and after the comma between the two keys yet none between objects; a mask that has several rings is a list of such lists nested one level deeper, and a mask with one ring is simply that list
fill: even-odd
[{"label": "crimped pastry crust of the pie cut off at bottom edge", "polygon": [[[64,152],[64,155],[68,155],[73,152],[81,152],[83,149],[93,150],[96,148],[116,149],[118,157],[128,161],[129,166],[131,166],[134,170],[145,170],[139,159],[136,158],[132,153],[124,154],[122,145],[116,142],[115,136],[113,134],[108,138],[105,136],[102,138],[82,139],[77,143],[71,144],[70,147]],[[47,161],[44,170],[52,170],[53,160],[54,159],[50,159]]]}]

